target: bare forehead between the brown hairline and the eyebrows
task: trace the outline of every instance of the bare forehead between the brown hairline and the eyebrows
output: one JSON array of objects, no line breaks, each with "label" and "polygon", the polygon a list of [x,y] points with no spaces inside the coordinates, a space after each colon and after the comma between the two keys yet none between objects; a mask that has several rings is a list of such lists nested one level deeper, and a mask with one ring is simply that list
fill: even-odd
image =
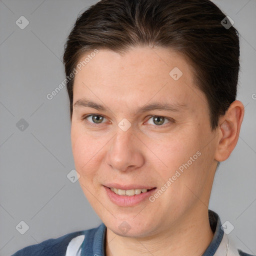
[{"label": "bare forehead between the brown hairline and the eyebrows", "polygon": [[77,71],[73,102],[86,96],[131,107],[148,101],[193,105],[198,97],[206,100],[194,85],[187,60],[169,49],[135,47],[122,55],[102,49]]}]

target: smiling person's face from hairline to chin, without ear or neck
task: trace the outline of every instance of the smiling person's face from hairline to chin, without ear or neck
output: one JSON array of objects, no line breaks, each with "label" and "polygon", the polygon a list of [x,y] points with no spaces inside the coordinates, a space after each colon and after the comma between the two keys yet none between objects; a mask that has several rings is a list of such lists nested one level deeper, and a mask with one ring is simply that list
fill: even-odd
[{"label": "smiling person's face from hairline to chin, without ear or neck", "polygon": [[217,141],[186,59],[163,48],[105,49],[80,69],[72,151],[81,188],[105,225],[143,237],[207,210]]}]

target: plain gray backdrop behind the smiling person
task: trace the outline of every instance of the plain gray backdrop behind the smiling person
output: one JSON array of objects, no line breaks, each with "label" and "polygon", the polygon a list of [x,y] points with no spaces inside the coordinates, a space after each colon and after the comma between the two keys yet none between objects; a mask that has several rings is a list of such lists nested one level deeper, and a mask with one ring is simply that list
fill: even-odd
[{"label": "plain gray backdrop behind the smiling person", "polygon": [[[96,1],[0,0],[0,255],[100,223],[74,168],[64,79],[63,45],[78,15]],[[256,253],[255,0],[214,0],[241,34],[237,99],[245,106],[240,138],[216,172],[209,208],[230,221],[231,239]],[[20,29],[15,21],[25,16]],[[254,97],[255,98],[255,97]],[[21,131],[16,123],[28,123]],[[29,225],[22,235],[15,226]],[[23,227],[22,227],[23,228]]]}]

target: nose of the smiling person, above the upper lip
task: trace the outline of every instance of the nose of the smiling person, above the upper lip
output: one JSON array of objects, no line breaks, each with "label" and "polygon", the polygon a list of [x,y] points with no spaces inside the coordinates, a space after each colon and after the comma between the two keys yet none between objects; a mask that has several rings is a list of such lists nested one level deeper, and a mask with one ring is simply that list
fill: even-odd
[{"label": "nose of the smiling person, above the upper lip", "polygon": [[110,140],[107,150],[107,163],[115,170],[129,171],[139,168],[144,163],[142,143],[134,135],[132,128],[123,131],[119,127]]}]

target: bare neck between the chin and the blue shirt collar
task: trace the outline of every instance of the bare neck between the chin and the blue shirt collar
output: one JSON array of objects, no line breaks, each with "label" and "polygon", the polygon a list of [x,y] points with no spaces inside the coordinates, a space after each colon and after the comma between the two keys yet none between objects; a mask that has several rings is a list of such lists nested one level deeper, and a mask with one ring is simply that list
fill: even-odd
[{"label": "bare neck between the chin and the blue shirt collar", "polygon": [[182,220],[158,234],[147,237],[125,237],[106,230],[106,256],[128,255],[202,255],[212,240],[206,207],[198,214],[187,214]]}]

